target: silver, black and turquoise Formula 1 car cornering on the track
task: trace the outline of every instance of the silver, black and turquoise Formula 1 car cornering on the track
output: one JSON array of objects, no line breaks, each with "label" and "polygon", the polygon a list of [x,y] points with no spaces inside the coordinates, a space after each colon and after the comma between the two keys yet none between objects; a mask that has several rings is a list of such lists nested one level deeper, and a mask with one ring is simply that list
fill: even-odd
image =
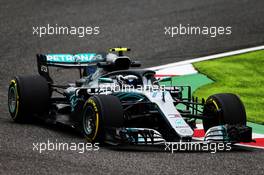
[{"label": "silver, black and turquoise Formula 1 car cornering on the track", "polygon": [[[192,141],[196,119],[200,119],[205,141],[252,141],[237,95],[222,93],[198,100],[190,86],[163,86],[170,78],[157,79],[152,70],[133,69],[140,63],[124,56],[129,50],[38,54],[39,75],[16,76],[10,82],[12,119],[26,122],[38,117],[76,128],[89,142],[135,145]],[[51,67],[75,68],[80,78],[56,84]]]}]

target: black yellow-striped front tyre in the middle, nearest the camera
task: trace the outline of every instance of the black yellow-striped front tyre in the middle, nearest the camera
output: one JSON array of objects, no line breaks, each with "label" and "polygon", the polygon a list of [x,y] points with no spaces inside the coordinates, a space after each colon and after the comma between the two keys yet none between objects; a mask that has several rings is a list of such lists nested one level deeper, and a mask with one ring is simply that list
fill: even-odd
[{"label": "black yellow-striped front tyre in the middle, nearest the camera", "polygon": [[123,123],[123,108],[115,96],[92,96],[83,106],[81,128],[89,142],[104,142],[106,133]]}]

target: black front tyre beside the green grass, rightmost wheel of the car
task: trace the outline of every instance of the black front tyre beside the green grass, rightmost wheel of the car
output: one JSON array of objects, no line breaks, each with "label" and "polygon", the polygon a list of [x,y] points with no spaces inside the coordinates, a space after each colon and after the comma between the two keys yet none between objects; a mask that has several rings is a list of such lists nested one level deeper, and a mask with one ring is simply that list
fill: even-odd
[{"label": "black front tyre beside the green grass, rightmost wheel of the car", "polygon": [[206,100],[203,120],[205,131],[217,125],[246,125],[246,111],[240,98],[235,94],[215,94]]}]

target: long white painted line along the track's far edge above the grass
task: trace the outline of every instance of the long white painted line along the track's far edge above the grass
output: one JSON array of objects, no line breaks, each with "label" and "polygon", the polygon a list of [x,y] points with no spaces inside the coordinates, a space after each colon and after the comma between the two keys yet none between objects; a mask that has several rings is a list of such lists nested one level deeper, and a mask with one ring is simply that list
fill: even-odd
[{"label": "long white painted line along the track's far edge above the grass", "polygon": [[165,68],[169,68],[169,67],[185,65],[185,64],[192,64],[195,62],[211,60],[211,59],[215,59],[215,58],[221,58],[221,57],[237,55],[237,54],[242,54],[242,53],[247,53],[247,52],[252,52],[252,51],[257,51],[257,50],[263,50],[263,49],[264,49],[264,45],[257,46],[257,47],[251,47],[251,48],[247,48],[247,49],[235,50],[235,51],[231,51],[231,52],[215,54],[215,55],[209,55],[209,56],[200,57],[200,58],[194,58],[194,59],[185,60],[185,61],[179,61],[179,62],[175,62],[175,63],[165,64],[162,66],[150,67],[149,69],[157,71],[157,70],[165,69]]}]

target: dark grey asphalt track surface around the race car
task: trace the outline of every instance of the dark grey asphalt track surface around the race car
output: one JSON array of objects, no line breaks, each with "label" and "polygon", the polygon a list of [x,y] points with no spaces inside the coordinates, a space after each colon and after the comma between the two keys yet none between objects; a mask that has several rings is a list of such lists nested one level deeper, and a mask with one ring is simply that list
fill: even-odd
[{"label": "dark grey asphalt track surface around the race car", "polygon": [[[45,124],[15,124],[7,111],[8,81],[36,73],[36,53],[77,53],[129,46],[145,67],[264,43],[264,1],[0,1],[0,174],[264,174],[264,152],[175,154],[113,150],[33,151],[33,143],[84,142],[74,131]],[[32,26],[47,24],[100,26],[100,35],[32,35]],[[230,25],[232,35],[164,35],[165,26]],[[173,58],[173,59],[172,59]],[[70,75],[64,75],[70,76]]]}]

